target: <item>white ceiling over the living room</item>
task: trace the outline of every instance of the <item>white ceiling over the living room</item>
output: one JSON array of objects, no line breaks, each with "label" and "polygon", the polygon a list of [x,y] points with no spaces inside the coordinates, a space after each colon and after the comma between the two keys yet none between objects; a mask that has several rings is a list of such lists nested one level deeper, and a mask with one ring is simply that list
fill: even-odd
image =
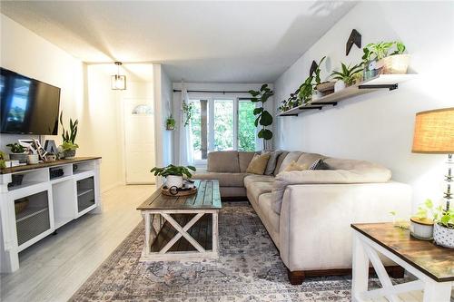
[{"label": "white ceiling over the living room", "polygon": [[1,12],[88,63],[163,63],[173,81],[274,81],[355,2],[11,1]]}]

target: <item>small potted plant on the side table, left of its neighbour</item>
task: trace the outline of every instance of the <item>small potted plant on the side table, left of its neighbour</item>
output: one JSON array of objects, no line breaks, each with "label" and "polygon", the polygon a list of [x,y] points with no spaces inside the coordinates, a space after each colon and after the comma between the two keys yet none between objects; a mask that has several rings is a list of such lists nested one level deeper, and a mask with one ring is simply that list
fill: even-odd
[{"label": "small potted plant on the side table, left of its neighbour", "polygon": [[410,218],[411,236],[422,239],[433,239],[434,219],[438,218],[438,211],[434,209],[432,200],[424,201],[423,205],[418,207],[418,212]]}]

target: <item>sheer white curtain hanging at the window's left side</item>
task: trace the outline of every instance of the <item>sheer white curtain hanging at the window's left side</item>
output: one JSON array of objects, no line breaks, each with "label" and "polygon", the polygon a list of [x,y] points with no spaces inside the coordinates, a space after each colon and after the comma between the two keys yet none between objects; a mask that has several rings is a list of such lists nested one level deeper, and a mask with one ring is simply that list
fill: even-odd
[{"label": "sheer white curtain hanging at the window's left side", "polygon": [[180,159],[179,165],[187,166],[193,164],[192,139],[191,139],[191,121],[184,126],[187,115],[183,112],[184,104],[189,105],[189,95],[185,85],[182,85],[182,107],[180,114]]}]

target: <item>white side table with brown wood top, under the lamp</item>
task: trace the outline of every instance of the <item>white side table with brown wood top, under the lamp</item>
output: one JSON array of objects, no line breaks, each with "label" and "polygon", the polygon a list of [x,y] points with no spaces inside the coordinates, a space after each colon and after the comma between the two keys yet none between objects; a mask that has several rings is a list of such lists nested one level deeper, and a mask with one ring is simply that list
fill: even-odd
[{"label": "white side table with brown wood top, under the lamp", "polygon": [[[352,224],[353,301],[386,297],[391,302],[401,301],[399,294],[424,290],[424,302],[449,302],[454,285],[454,251],[441,248],[429,241],[410,237],[410,230],[392,223]],[[405,268],[418,280],[392,285],[378,253]],[[369,261],[377,272],[382,288],[368,291]]]}]

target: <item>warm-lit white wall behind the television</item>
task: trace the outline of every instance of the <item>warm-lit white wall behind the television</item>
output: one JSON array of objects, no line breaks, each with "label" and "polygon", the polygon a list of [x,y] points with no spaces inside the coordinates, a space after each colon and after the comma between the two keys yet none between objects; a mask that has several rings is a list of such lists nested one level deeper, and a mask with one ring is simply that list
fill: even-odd
[{"label": "warm-lit white wall behind the television", "polygon": [[[110,77],[95,70],[96,67],[84,65],[5,15],[0,15],[0,24],[1,66],[60,87],[60,109],[65,119],[79,119],[77,156],[103,157],[102,190],[123,182],[119,166],[123,154],[118,148],[118,100],[110,90]],[[18,137],[2,134],[2,150],[5,151],[8,141]],[[60,135],[47,138],[61,142]]]}]

